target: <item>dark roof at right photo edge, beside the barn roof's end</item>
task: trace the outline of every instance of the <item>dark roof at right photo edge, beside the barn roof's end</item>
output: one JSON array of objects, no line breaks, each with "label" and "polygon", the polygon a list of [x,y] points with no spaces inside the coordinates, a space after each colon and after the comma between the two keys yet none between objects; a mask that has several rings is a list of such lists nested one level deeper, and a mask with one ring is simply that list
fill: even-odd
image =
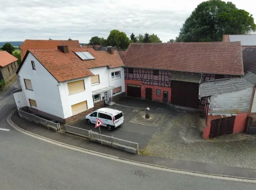
[{"label": "dark roof at right photo edge, beside the barn roof's end", "polygon": [[243,70],[256,74],[256,47],[247,47],[243,50]]}]

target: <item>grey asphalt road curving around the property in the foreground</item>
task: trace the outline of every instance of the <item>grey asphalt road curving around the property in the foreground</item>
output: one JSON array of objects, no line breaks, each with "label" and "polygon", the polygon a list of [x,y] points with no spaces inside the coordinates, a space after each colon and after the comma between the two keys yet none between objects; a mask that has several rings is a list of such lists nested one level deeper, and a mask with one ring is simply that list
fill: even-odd
[{"label": "grey asphalt road curving around the property in the foreground", "polygon": [[[10,90],[11,91],[11,90]],[[8,91],[9,93],[9,91]],[[255,189],[255,184],[164,172],[77,152],[7,124],[12,96],[0,95],[0,189]]]}]

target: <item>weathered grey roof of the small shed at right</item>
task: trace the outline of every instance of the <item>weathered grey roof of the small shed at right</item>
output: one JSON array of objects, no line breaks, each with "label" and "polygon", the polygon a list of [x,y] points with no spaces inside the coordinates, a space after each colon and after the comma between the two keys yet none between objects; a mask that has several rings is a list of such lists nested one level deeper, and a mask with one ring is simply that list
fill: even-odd
[{"label": "weathered grey roof of the small shed at right", "polygon": [[217,94],[240,91],[249,87],[253,87],[253,84],[249,83],[244,78],[209,80],[199,85],[199,95],[202,98]]}]

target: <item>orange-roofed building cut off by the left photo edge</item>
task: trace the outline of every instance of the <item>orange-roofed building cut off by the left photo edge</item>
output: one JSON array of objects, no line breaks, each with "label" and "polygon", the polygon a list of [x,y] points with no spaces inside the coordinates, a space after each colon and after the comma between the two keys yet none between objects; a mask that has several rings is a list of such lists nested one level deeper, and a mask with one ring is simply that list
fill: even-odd
[{"label": "orange-roofed building cut off by the left photo edge", "polygon": [[18,69],[17,58],[9,54],[7,51],[0,51],[0,80],[5,80],[5,83],[12,80],[16,76]]}]

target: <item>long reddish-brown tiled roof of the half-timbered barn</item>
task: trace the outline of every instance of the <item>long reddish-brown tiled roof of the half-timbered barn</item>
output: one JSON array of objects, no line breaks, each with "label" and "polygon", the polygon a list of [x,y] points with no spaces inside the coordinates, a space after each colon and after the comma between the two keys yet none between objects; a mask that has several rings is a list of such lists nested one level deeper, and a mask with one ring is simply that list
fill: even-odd
[{"label": "long reddish-brown tiled roof of the half-timbered barn", "polygon": [[240,42],[131,43],[122,59],[133,68],[243,75]]}]

